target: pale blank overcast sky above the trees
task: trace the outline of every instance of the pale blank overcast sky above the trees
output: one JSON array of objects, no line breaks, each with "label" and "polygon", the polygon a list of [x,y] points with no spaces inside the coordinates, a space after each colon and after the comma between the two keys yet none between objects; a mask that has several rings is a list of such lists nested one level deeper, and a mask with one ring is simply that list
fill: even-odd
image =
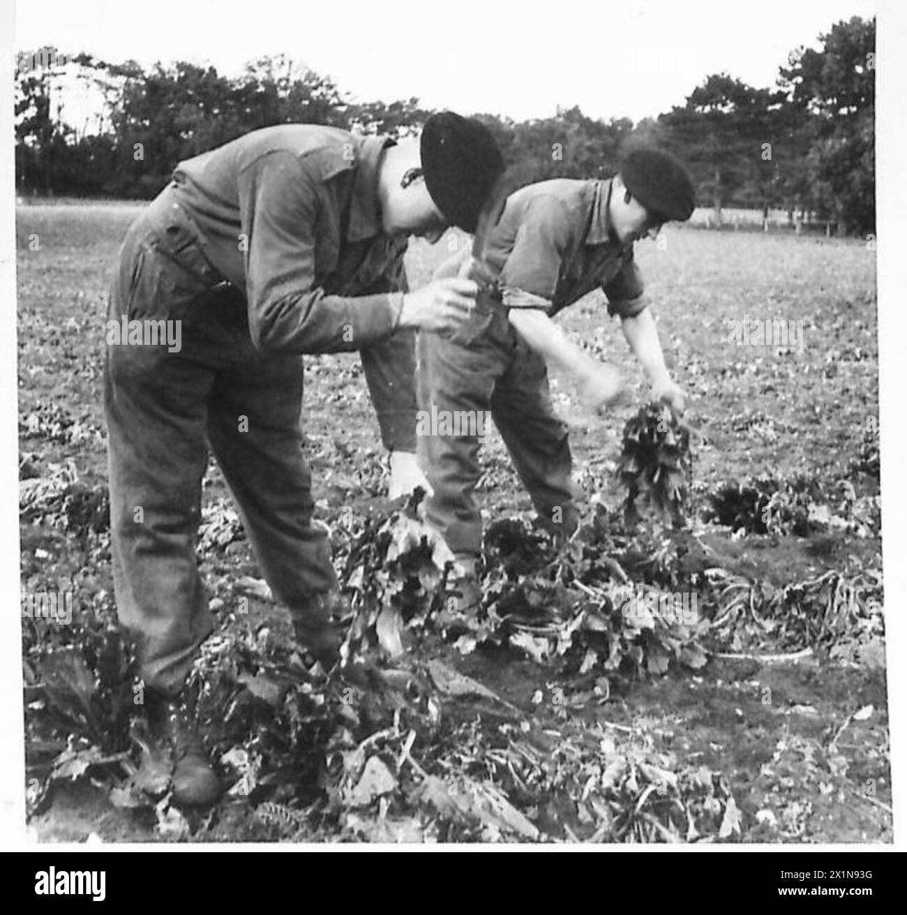
[{"label": "pale blank overcast sky above the trees", "polygon": [[874,0],[18,0],[16,46],[113,61],[208,61],[233,74],[283,52],[360,101],[521,120],[578,104],[638,121],[709,73],[774,84],[797,45]]}]

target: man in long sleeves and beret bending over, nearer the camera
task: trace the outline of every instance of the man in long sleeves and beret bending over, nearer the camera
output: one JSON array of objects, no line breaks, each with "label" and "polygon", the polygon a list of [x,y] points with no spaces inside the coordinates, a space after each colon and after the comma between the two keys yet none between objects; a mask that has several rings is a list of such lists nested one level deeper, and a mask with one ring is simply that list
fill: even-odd
[{"label": "man in long sleeves and beret bending over, nearer the camera", "polygon": [[180,163],[128,231],[105,365],[113,578],[178,802],[219,792],[180,702],[214,629],[194,553],[208,447],[297,638],[330,666],[344,608],[311,520],[302,354],[360,351],[384,444],[415,468],[414,330],[461,326],[477,285],[410,292],[407,238],[473,231],[502,168],[454,113],[400,142],[283,124]]}]

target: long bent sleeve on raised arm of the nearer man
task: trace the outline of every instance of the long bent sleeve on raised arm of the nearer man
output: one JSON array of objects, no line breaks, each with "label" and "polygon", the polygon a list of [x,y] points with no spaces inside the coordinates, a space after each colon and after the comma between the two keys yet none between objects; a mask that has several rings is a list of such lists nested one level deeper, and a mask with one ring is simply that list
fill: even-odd
[{"label": "long bent sleeve on raised arm of the nearer man", "polygon": [[315,285],[319,188],[292,153],[261,156],[239,176],[249,328],[256,347],[290,352],[359,350],[387,338],[402,297],[328,296]]}]

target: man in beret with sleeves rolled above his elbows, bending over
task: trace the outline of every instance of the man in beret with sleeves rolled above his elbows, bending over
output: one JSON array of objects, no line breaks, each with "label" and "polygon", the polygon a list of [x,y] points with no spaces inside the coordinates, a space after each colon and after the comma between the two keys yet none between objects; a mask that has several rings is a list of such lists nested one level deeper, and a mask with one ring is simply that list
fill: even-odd
[{"label": "man in beret with sleeves rolled above his elbows, bending over", "polygon": [[[553,315],[602,289],[608,314],[621,318],[655,397],[683,410],[684,393],[667,371],[643,294],[634,242],[654,238],[667,221],[688,220],[694,205],[687,169],[666,152],[638,147],[610,180],[556,178],[518,189],[479,257],[456,254],[435,273],[474,275],[484,283],[464,327],[422,331],[417,344],[418,456],[432,488],[423,503],[425,520],[456,560],[452,596],[461,610],[478,602],[482,519],[474,490],[487,417],[541,522],[569,535],[578,522],[571,451],[567,426],[551,405],[548,367],[571,373],[597,409],[616,403],[622,391],[618,373],[571,343]],[[441,417],[448,418],[446,427]]]}]

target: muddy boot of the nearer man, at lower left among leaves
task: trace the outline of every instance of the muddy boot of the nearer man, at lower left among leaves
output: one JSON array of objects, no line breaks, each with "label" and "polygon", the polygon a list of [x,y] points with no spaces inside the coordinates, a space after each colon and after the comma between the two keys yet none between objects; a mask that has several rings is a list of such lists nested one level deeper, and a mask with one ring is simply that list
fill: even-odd
[{"label": "muddy boot of the nearer man, at lower left among leaves", "polygon": [[205,807],[218,800],[220,780],[208,761],[197,721],[187,714],[179,698],[147,694],[148,733],[152,752],[173,761],[170,787],[174,802],[185,807]]}]

